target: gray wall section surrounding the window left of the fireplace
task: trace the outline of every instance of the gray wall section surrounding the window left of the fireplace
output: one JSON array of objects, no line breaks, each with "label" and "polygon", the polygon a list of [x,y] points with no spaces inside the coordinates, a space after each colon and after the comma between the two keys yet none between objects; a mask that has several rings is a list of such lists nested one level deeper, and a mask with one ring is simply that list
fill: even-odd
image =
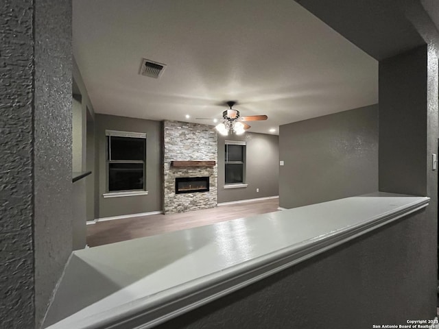
[{"label": "gray wall section surrounding the window left of the fireplace", "polygon": [[[162,206],[162,127],[160,121],[96,114],[97,159],[99,161],[99,218],[141,212],[161,211]],[[146,134],[146,188],[148,195],[104,198],[106,193],[105,130]]]}]

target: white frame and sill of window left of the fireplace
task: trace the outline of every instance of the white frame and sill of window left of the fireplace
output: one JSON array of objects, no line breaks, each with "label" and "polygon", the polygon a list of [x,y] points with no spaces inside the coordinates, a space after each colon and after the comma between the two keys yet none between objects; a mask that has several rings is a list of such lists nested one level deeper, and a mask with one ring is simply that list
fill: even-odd
[{"label": "white frame and sill of window left of the fireplace", "polygon": [[[106,186],[104,197],[125,197],[130,195],[147,195],[146,191],[146,154],[147,154],[147,138],[145,133],[141,132],[122,132],[118,130],[106,130]],[[145,139],[145,154],[143,160],[111,160],[111,137],[124,138],[143,138]],[[130,190],[110,191],[110,164],[111,163],[143,163],[143,188]]]}]

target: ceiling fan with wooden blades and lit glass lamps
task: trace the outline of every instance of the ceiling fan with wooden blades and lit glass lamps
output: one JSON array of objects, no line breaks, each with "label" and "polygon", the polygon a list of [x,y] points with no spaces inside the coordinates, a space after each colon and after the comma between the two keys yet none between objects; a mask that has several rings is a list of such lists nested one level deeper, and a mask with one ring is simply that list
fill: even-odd
[{"label": "ceiling fan with wooden blades and lit glass lamps", "polygon": [[[222,112],[222,123],[215,126],[215,129],[219,134],[227,136],[229,132],[234,132],[237,135],[244,134],[251,126],[243,121],[263,121],[267,120],[266,115],[250,115],[247,117],[241,117],[238,110],[234,110],[232,107],[236,104],[236,101],[227,101],[229,109]],[[195,118],[204,120],[205,118]],[[211,120],[211,119],[210,119]]]}]

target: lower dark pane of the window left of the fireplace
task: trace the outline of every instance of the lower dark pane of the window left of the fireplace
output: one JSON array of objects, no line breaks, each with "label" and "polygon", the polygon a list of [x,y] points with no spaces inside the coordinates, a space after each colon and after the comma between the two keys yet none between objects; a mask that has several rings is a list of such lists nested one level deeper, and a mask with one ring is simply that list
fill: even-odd
[{"label": "lower dark pane of the window left of the fireplace", "polygon": [[109,163],[108,191],[143,190],[143,163]]}]

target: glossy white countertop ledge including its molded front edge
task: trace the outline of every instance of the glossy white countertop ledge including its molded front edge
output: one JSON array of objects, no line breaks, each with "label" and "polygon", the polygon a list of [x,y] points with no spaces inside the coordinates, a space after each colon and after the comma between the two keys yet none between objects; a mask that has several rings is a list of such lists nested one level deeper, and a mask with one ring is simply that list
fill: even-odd
[{"label": "glossy white countertop ledge including its molded front edge", "polygon": [[70,316],[48,328],[150,328],[428,202],[375,193],[73,252],[47,319]]}]

